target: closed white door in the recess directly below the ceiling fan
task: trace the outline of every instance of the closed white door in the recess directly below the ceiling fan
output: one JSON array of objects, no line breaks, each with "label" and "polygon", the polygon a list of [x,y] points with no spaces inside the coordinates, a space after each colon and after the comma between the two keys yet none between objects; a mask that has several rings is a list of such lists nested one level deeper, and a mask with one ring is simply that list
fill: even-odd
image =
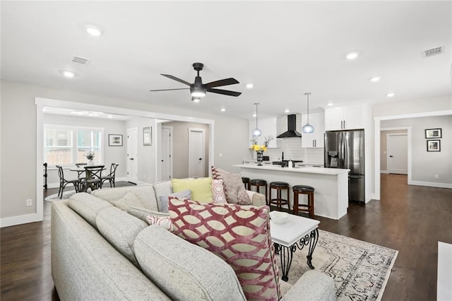
[{"label": "closed white door in the recess directly below the ceiling fan", "polygon": [[206,133],[189,128],[189,177],[206,177]]}]

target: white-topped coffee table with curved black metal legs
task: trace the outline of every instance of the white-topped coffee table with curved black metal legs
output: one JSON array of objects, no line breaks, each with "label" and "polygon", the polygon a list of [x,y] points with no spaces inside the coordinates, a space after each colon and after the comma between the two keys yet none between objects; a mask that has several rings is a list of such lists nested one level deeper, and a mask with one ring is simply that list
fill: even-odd
[{"label": "white-topped coffee table with curved black metal legs", "polygon": [[283,272],[283,281],[288,281],[290,265],[292,264],[292,256],[297,249],[303,249],[309,245],[307,264],[309,268],[312,266],[312,254],[319,240],[319,220],[311,218],[303,218],[302,216],[289,215],[284,224],[275,224],[270,219],[270,236],[275,246],[276,254],[280,254],[281,270]]}]

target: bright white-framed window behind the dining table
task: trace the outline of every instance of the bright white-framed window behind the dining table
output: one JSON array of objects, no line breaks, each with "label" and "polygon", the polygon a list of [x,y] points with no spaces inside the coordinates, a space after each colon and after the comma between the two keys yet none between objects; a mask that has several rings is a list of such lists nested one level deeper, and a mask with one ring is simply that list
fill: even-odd
[{"label": "bright white-framed window behind the dining table", "polygon": [[95,153],[94,163],[102,163],[103,129],[71,126],[44,126],[44,162],[48,165],[85,163],[85,153]]}]

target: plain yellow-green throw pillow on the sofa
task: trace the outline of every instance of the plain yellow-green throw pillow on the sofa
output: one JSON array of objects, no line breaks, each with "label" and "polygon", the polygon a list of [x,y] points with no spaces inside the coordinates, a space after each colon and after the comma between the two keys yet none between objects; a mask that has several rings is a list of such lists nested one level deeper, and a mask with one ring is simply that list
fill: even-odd
[{"label": "plain yellow-green throw pillow on the sofa", "polygon": [[212,203],[212,179],[210,177],[200,177],[198,179],[172,179],[172,190],[180,192],[191,191],[191,199],[203,203]]}]

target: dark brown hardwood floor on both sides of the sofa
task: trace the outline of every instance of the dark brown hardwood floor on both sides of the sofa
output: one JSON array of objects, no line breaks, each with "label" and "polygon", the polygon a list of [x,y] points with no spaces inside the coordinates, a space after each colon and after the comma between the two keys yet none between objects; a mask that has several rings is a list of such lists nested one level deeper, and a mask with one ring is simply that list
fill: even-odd
[{"label": "dark brown hardwood floor on both sides of the sofa", "polygon": [[[322,230],[399,251],[383,300],[436,300],[438,241],[452,243],[452,189],[406,183],[404,175],[381,175],[381,201],[350,203],[340,220],[316,219]],[[40,223],[1,228],[1,300],[59,300],[50,269],[50,205],[44,201]]]}]

